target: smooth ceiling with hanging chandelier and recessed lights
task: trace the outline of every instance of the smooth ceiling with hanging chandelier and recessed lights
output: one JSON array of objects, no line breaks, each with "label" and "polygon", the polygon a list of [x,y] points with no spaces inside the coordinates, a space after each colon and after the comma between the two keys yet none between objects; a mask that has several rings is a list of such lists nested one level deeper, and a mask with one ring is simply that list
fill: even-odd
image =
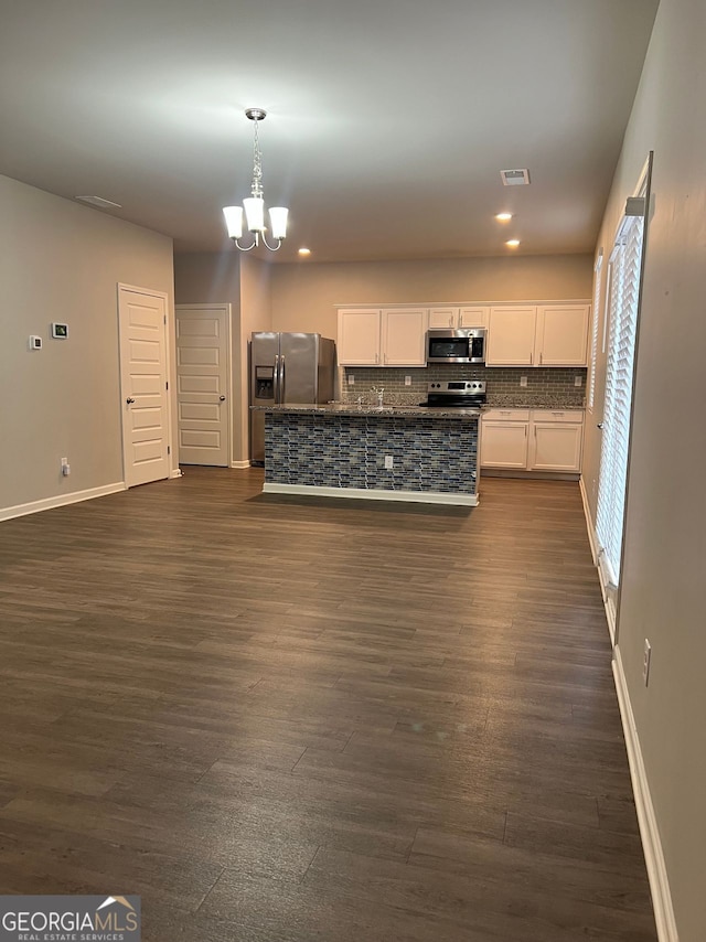
[{"label": "smooth ceiling with hanging chandelier and recessed lights", "polygon": [[592,251],[656,6],[0,0],[0,173],[227,249],[255,106],[276,260]]}]

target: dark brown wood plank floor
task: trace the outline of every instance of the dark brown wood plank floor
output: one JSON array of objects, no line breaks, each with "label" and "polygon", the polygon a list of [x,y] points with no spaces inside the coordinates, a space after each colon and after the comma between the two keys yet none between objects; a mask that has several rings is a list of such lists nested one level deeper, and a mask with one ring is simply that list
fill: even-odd
[{"label": "dark brown wood plank floor", "polygon": [[0,526],[0,892],[147,942],[654,940],[578,488],[186,469]]}]

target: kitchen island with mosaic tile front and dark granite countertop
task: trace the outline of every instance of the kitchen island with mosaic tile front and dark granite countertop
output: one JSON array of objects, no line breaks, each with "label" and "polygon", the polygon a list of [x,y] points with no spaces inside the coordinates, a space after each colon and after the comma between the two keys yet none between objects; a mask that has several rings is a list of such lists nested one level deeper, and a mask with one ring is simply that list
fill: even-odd
[{"label": "kitchen island with mosaic tile front and dark granite countertop", "polygon": [[480,410],[255,406],[265,416],[265,493],[478,504]]}]

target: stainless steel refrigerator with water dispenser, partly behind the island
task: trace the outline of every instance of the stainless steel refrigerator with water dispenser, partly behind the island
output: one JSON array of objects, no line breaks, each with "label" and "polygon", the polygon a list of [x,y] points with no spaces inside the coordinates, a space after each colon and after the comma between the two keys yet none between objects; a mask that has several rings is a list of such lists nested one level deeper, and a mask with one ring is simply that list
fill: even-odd
[{"label": "stainless steel refrigerator with water dispenser, partly behind the island", "polygon": [[[250,340],[250,405],[328,403],[335,343],[318,333],[256,332]],[[265,463],[265,413],[250,409],[250,463]]]}]

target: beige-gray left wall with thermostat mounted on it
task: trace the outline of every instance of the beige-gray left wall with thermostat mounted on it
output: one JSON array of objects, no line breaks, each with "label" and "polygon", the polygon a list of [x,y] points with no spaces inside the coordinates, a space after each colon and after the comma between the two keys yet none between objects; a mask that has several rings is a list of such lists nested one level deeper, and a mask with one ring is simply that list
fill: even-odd
[{"label": "beige-gray left wall with thermostat mounted on it", "polygon": [[0,176],[0,511],[122,481],[117,283],[171,311],[172,240]]}]

